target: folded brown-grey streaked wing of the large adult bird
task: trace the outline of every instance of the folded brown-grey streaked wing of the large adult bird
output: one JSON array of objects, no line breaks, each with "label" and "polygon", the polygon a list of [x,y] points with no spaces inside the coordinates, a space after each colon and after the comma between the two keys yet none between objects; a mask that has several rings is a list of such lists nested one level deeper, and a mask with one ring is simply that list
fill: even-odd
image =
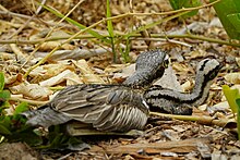
[{"label": "folded brown-grey streaked wing of the large adult bird", "polygon": [[142,128],[148,107],[140,93],[119,85],[76,85],[60,91],[49,106],[104,131]]}]

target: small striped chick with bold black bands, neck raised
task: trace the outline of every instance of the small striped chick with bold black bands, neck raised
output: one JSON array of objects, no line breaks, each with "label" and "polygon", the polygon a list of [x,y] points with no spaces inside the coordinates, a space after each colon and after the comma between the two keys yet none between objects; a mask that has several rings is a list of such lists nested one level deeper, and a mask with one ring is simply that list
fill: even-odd
[{"label": "small striped chick with bold black bands, neck raised", "polygon": [[196,66],[195,86],[192,93],[181,93],[163,88],[159,85],[151,86],[144,93],[144,99],[151,111],[191,115],[193,106],[202,104],[209,93],[211,85],[223,64],[215,59],[204,59]]}]

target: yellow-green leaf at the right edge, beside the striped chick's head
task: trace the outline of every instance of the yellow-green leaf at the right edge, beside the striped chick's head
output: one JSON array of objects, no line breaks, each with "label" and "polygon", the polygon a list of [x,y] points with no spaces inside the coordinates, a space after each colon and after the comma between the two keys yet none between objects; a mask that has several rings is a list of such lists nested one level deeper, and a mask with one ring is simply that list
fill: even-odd
[{"label": "yellow-green leaf at the right edge, beside the striped chick's head", "polygon": [[237,113],[238,112],[238,104],[236,103],[236,99],[240,98],[239,90],[238,89],[230,89],[229,86],[223,85],[223,91],[224,91],[224,95],[228,101],[228,104],[231,108],[231,111],[233,113]]}]

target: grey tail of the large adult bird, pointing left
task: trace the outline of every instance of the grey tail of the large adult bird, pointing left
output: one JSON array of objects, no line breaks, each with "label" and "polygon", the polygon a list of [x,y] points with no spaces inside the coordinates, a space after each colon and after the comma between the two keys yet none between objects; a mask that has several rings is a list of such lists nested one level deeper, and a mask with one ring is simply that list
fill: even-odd
[{"label": "grey tail of the large adult bird, pointing left", "polygon": [[49,127],[51,125],[62,124],[71,120],[69,116],[57,112],[49,107],[26,111],[21,114],[28,119],[26,124],[31,126]]}]

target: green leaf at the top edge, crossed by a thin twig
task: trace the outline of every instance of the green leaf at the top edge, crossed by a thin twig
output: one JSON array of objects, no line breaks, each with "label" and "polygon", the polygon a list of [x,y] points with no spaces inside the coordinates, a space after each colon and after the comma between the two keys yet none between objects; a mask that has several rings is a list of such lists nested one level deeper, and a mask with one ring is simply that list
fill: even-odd
[{"label": "green leaf at the top edge, crossed by a thin twig", "polygon": [[[171,8],[173,10],[180,10],[182,8],[194,8],[194,7],[199,7],[201,5],[201,1],[200,0],[169,0]],[[197,14],[199,10],[195,11],[191,11],[184,15],[182,15],[181,17],[187,19],[190,16],[193,16],[195,14]]]}]

